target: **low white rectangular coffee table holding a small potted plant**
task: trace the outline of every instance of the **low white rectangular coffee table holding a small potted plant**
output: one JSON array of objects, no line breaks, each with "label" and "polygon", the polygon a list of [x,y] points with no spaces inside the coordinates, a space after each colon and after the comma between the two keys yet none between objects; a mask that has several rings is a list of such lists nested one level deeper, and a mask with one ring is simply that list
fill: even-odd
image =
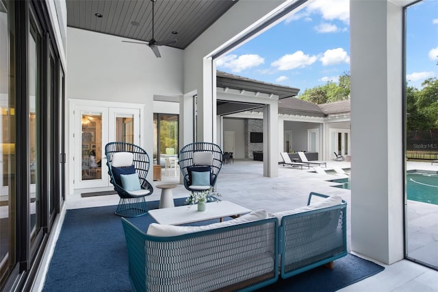
[{"label": "low white rectangular coffee table holding a small potted plant", "polygon": [[[189,208],[190,206],[190,208]],[[229,216],[239,216],[251,212],[250,209],[229,201],[209,202],[205,211],[199,212],[196,205],[149,210],[149,215],[160,224],[180,225]]]}]

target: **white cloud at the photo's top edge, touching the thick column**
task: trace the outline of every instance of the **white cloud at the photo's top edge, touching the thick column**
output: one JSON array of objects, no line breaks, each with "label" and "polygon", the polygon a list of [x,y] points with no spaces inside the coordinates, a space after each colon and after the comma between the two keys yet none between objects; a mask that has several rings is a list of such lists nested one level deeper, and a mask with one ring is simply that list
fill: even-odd
[{"label": "white cloud at the photo's top edge, touching the thick column", "polygon": [[323,19],[338,19],[344,23],[350,21],[350,1],[349,0],[315,0],[307,6],[309,13],[320,13]]}]

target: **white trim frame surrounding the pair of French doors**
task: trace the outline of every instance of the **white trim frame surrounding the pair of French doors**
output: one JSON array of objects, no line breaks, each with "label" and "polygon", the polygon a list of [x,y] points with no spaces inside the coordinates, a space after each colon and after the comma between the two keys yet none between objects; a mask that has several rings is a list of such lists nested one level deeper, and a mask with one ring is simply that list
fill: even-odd
[{"label": "white trim frame surrounding the pair of French doors", "polygon": [[[144,148],[144,138],[141,135],[142,133],[142,125],[144,125],[145,119],[144,119],[144,104],[130,104],[130,103],[122,103],[122,102],[116,102],[116,101],[96,101],[96,100],[90,100],[90,99],[68,99],[68,149],[67,151],[67,159],[70,161],[68,163],[67,170],[67,184],[68,184],[68,194],[73,194],[75,192],[75,108],[80,107],[88,107],[88,108],[107,108],[108,112],[110,108],[118,108],[120,111],[123,111],[123,109],[138,109],[140,110],[140,129],[139,129],[139,138],[138,141],[140,141],[139,145],[140,147]],[[118,112],[118,110],[116,110]],[[105,150],[103,150],[105,151]],[[102,162],[102,167],[104,166],[105,162]],[[107,188],[111,188],[111,186],[108,186]]]}]

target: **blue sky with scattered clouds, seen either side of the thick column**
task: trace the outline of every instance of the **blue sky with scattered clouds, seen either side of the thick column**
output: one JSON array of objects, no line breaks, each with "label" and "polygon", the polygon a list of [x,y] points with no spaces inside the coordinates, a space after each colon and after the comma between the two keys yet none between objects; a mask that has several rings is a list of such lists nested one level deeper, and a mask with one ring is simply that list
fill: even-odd
[{"label": "blue sky with scattered clouds, seen either side of the thick column", "polygon": [[[300,88],[338,82],[350,72],[349,0],[315,0],[244,45],[220,57],[220,71]],[[422,88],[438,77],[438,0],[407,10],[407,81]]]}]

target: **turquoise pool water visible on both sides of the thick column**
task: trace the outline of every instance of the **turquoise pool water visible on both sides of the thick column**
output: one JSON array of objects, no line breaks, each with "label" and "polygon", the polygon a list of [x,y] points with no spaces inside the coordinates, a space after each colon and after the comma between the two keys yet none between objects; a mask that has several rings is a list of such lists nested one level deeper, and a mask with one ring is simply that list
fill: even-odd
[{"label": "turquoise pool water visible on both sides of the thick column", "polygon": [[[337,188],[350,189],[348,178],[331,180],[337,182]],[[408,173],[407,174],[408,199],[438,205],[438,174],[435,173]]]}]

